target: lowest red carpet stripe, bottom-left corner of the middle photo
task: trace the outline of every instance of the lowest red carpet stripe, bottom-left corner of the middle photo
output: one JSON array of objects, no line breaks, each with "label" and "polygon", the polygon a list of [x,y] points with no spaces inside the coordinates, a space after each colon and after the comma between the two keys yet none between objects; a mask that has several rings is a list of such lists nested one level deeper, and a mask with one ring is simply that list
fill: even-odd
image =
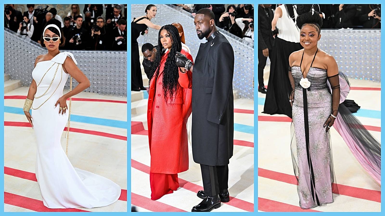
[{"label": "lowest red carpet stripe, bottom-left corner of the middle photo", "polygon": [[131,193],[131,204],[154,212],[186,212],[182,209],[175,208],[174,206],[169,206],[135,193]]}]

